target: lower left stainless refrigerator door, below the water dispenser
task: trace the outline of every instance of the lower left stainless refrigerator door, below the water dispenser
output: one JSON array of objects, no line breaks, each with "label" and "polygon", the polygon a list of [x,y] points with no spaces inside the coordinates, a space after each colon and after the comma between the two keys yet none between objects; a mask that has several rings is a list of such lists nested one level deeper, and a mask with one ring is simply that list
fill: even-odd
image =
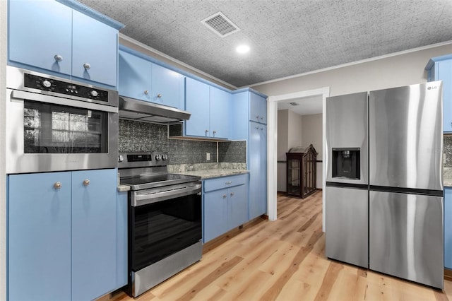
[{"label": "lower left stainless refrigerator door, below the water dispenser", "polygon": [[326,187],[326,256],[368,267],[367,189]]}]

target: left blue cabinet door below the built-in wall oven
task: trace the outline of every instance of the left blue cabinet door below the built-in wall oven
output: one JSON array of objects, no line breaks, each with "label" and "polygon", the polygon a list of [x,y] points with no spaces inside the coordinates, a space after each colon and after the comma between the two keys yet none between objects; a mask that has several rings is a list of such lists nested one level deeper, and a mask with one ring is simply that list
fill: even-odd
[{"label": "left blue cabinet door below the built-in wall oven", "polygon": [[71,172],[9,176],[7,231],[8,300],[71,300]]}]

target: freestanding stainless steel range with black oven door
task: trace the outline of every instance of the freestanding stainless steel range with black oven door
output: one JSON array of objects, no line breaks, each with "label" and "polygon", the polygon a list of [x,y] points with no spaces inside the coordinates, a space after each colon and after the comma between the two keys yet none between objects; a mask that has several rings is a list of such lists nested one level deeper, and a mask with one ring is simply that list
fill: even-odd
[{"label": "freestanding stainless steel range with black oven door", "polygon": [[202,256],[201,177],[167,172],[167,153],[119,153],[129,191],[129,285],[133,297]]}]

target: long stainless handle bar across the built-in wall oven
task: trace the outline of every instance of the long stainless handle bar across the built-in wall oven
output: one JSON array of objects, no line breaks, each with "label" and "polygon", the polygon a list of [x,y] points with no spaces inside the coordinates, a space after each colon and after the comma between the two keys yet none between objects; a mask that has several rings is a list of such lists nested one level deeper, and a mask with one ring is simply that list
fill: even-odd
[{"label": "long stainless handle bar across the built-in wall oven", "polygon": [[[61,105],[61,98],[57,98],[52,95],[31,93],[21,90],[13,90],[11,92],[11,98],[16,98],[18,100],[34,100],[39,102],[51,103],[53,105]],[[81,107],[87,110],[97,110],[109,113],[118,112],[117,107],[112,107],[109,105],[98,105],[97,103],[85,102],[81,100],[71,100],[69,98],[64,98],[64,105],[69,105],[71,107]]]}]

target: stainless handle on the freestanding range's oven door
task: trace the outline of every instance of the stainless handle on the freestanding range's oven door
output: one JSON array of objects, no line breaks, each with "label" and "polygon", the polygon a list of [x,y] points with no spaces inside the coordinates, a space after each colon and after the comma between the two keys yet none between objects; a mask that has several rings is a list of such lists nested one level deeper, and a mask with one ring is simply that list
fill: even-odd
[{"label": "stainless handle on the freestanding range's oven door", "polygon": [[147,205],[148,203],[157,203],[159,201],[165,201],[168,199],[176,199],[180,196],[188,196],[190,194],[201,194],[202,184],[194,184],[189,187],[183,187],[178,189],[160,191],[160,192],[145,192],[140,194],[139,192],[134,195],[131,201],[132,207],[138,207]]}]

